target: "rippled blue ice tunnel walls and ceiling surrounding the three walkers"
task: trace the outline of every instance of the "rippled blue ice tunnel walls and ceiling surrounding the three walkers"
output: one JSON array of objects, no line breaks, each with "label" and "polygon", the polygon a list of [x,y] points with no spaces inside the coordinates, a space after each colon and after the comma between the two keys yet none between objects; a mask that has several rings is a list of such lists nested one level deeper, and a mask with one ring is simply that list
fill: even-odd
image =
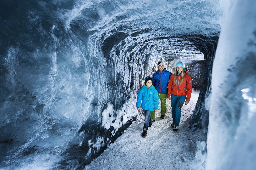
[{"label": "rippled blue ice tunnel walls and ceiling surrounding the three walkers", "polygon": [[188,67],[200,89],[191,130],[206,142],[225,5],[1,1],[0,167],[82,169],[141,116],[137,91],[159,60]]}]

